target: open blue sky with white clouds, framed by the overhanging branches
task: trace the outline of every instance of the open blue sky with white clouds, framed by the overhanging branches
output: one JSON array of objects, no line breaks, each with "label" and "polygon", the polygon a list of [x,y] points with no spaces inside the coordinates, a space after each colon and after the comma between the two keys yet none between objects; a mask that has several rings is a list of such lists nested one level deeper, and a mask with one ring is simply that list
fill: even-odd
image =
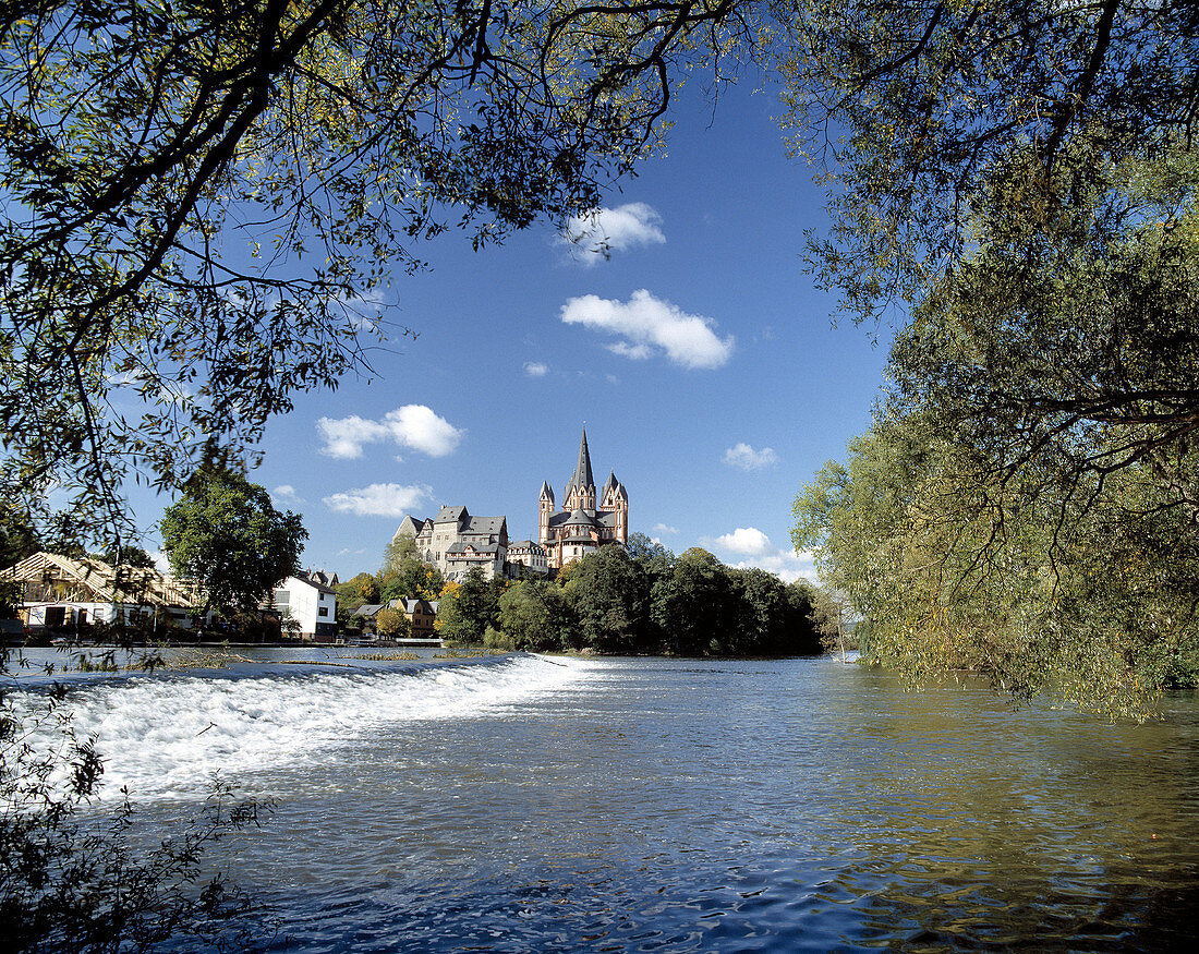
[{"label": "open blue sky with white clouds, framed by the overhanging branches", "polygon": [[[787,155],[777,96],[676,104],[668,155],[605,197],[609,258],[544,224],[481,252],[450,232],[384,299],[418,337],[375,353],[374,379],[301,395],[269,425],[251,479],[302,514],[306,566],[374,570],[403,514],[441,504],[536,538],[541,484],[561,502],[586,421],[596,480],[625,484],[632,530],[809,571],[791,500],[867,427],[885,343],[832,328],[805,274],[824,197]],[[163,503],[143,502],[143,521]]]}]

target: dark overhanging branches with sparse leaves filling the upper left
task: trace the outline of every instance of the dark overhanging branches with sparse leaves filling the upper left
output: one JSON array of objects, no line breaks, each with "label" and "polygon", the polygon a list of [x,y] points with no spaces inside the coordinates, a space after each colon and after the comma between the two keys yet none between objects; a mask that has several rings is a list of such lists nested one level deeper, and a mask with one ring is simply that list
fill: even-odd
[{"label": "dark overhanging branches with sparse leaves filling the upper left", "polygon": [[369,373],[414,244],[596,206],[753,38],[733,0],[10,5],[0,499],[67,488],[128,539],[132,474],[253,461],[297,391]]}]

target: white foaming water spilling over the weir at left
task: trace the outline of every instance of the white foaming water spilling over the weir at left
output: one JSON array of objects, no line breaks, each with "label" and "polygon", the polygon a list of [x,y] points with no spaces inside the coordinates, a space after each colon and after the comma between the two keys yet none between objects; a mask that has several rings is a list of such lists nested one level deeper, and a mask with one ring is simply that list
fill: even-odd
[{"label": "white foaming water spilling over the weir at left", "polygon": [[[138,799],[205,794],[213,778],[315,763],[381,726],[499,710],[559,689],[585,671],[519,656],[416,671],[306,670],[240,678],[134,678],[72,691],[79,738],[104,757],[101,798],[128,786]],[[22,694],[17,704],[37,704]],[[49,745],[49,734],[35,744]]]}]

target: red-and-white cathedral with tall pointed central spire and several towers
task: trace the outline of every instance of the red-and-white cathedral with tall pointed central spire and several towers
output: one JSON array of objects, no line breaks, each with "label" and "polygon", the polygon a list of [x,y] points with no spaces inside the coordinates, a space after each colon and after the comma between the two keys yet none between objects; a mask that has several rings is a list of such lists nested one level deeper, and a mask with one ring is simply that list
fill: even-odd
[{"label": "red-and-white cathedral with tall pointed central spire and several towers", "polygon": [[561,569],[604,544],[628,542],[628,493],[614,473],[596,493],[586,428],[579,443],[579,462],[562,497],[559,510],[549,484],[541,485],[541,545],[552,569]]}]

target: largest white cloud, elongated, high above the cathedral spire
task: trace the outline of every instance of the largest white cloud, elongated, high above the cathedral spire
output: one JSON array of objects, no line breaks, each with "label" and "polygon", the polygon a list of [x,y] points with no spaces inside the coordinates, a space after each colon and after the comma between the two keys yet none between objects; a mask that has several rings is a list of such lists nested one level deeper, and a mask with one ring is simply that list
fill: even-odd
[{"label": "largest white cloud, elongated, high above the cathedral spire", "polygon": [[626,358],[645,359],[661,349],[676,365],[711,368],[721,367],[733,355],[733,336],[719,338],[711,318],[687,314],[644,288],[634,292],[627,304],[598,295],[572,298],[561,314],[566,324],[620,335],[623,341],[608,348]]}]

